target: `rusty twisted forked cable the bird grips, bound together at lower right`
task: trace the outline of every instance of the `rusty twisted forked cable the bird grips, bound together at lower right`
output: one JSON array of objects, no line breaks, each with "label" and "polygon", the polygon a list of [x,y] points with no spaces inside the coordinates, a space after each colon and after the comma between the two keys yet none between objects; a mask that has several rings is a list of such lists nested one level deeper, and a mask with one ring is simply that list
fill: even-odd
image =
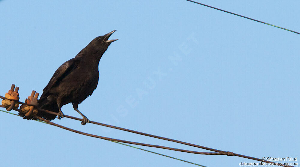
[{"label": "rusty twisted forked cable the bird grips, bound together at lower right", "polygon": [[[1,98],[1,99],[7,99],[7,98],[5,98],[5,97],[3,97],[3,96],[1,96],[1,95],[0,95],[0,98]],[[19,102],[19,103],[20,103],[20,104],[25,104],[25,103],[23,103],[23,102]],[[55,114],[55,115],[58,115],[58,113],[53,112],[53,111],[48,111],[48,110],[45,110],[45,109],[42,109],[42,108],[37,108],[37,109],[38,109],[38,110],[41,110],[41,111],[44,111],[44,112],[46,112],[46,113],[49,113],[49,114]],[[14,110],[16,110],[16,111],[21,111],[21,110],[19,110],[19,109],[14,109]],[[23,112],[23,111],[21,111],[21,112]],[[68,115],[64,115],[64,117],[82,121],[82,119],[80,119],[80,118],[76,118],[76,117],[72,117],[72,116],[68,116]],[[41,117],[37,117],[37,119],[40,119],[40,118],[41,118]],[[51,122],[51,121],[48,121],[48,120],[46,120],[46,119],[43,119],[43,118],[41,118],[40,120],[43,120],[43,121],[45,121],[45,122],[47,122],[47,123],[49,123],[49,124],[51,124],[51,125],[54,125],[54,124],[55,124],[55,123],[53,123],[53,122]],[[215,151],[215,152],[217,152],[217,154],[211,154],[211,153],[208,152],[209,154],[206,154],[206,155],[229,155],[229,156],[238,156],[238,157],[247,158],[247,159],[250,159],[250,160],[256,160],[256,161],[261,161],[261,162],[264,162],[264,163],[271,163],[271,164],[274,164],[274,162],[266,161],[266,160],[264,161],[264,160],[262,160],[262,159],[255,158],[255,157],[249,157],[249,156],[246,156],[246,155],[235,154],[235,153],[232,153],[232,152],[229,152],[229,151],[221,151],[221,150],[217,150],[217,149],[213,149],[213,148],[204,147],[204,146],[201,146],[201,145],[196,145],[196,144],[186,143],[186,142],[182,142],[182,141],[179,141],[179,140],[169,139],[169,138],[166,138],[166,137],[155,136],[155,135],[152,135],[152,134],[146,134],[146,133],[143,133],[143,132],[133,131],[133,130],[130,130],[130,129],[125,129],[125,128],[121,128],[121,127],[117,127],[117,126],[113,126],[113,125],[107,125],[107,124],[99,123],[99,122],[95,122],[95,121],[90,121],[90,123],[93,123],[93,124],[96,124],[96,125],[102,125],[102,126],[106,126],[106,127],[110,127],[110,128],[115,128],[115,129],[119,129],[119,130],[123,130],[123,131],[128,131],[128,132],[132,132],[132,133],[136,133],[136,134],[140,134],[140,135],[144,135],[144,136],[154,137],[154,138],[158,138],[158,139],[162,139],[162,140],[172,141],[172,142],[180,143],[180,144],[184,144],[184,145],[190,145],[190,146],[193,146],[193,147],[202,148],[202,149],[206,149],[206,150],[210,150],[210,151]],[[61,126],[61,125],[55,124],[54,126],[58,126],[58,127],[59,127],[59,126]],[[60,128],[62,128],[62,127],[64,127],[64,126],[61,126]],[[67,127],[65,127],[65,128],[67,128]],[[76,132],[76,130],[73,130],[73,129],[70,129],[70,128],[68,128],[68,129],[66,129],[66,130],[68,130],[68,131],[73,131],[73,132],[75,132],[75,133],[80,132],[80,131],[77,131],[77,132]],[[84,132],[81,132],[81,133],[84,133]],[[79,133],[79,134],[81,134],[81,133]],[[88,135],[87,135],[87,133],[85,133],[85,134],[83,134],[83,135],[91,136],[92,134],[88,134]],[[95,136],[97,136],[97,135],[95,135]],[[94,136],[91,136],[91,137],[94,137]],[[96,138],[100,138],[100,137],[101,137],[101,136],[98,136],[98,137],[96,137]],[[104,139],[104,138],[101,138],[101,139]],[[112,138],[107,138],[107,139],[104,139],[104,140],[110,140],[110,139],[112,139]],[[111,141],[117,141],[117,142],[122,142],[122,141],[124,141],[124,142],[122,142],[122,143],[130,142],[130,141],[126,141],[126,140],[118,140],[118,139],[113,139],[113,140],[111,140]],[[136,143],[136,142],[131,142],[131,143],[129,143],[129,144],[134,144],[134,143]],[[142,145],[142,144],[143,144],[143,146],[148,146],[147,144],[145,145],[144,143],[138,143],[138,144],[136,144],[136,145]],[[155,146],[158,146],[157,148],[162,148],[162,147],[164,147],[164,146],[159,146],[159,145],[153,145],[153,146],[154,146],[154,147],[155,147]],[[152,147],[152,146],[149,146],[149,147]],[[168,149],[168,148],[170,148],[170,147],[166,147],[166,148],[164,148],[164,149]],[[177,148],[173,148],[173,150],[174,150],[174,149],[177,149]],[[178,149],[178,150],[181,150],[181,149]],[[178,150],[174,150],[174,151],[178,151]],[[182,150],[181,152],[186,152],[186,151],[189,151],[189,150]],[[194,152],[196,152],[196,153],[194,153]],[[206,152],[191,151],[191,152],[188,152],[188,153],[202,154],[202,153],[206,153]],[[218,154],[218,153],[220,153],[220,154]],[[294,166],[281,165],[281,164],[280,164],[279,166],[294,167]]]}]

